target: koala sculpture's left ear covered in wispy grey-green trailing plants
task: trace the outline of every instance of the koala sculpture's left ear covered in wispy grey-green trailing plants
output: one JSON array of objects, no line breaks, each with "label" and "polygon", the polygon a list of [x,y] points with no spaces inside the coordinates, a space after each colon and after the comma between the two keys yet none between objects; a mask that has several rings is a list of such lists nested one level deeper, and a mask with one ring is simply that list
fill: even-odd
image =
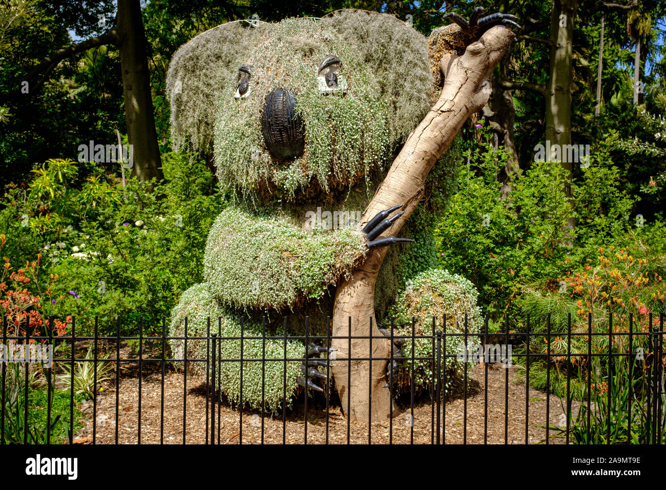
[{"label": "koala sculpture's left ear covered in wispy grey-green trailing plants", "polygon": [[266,40],[266,23],[242,21],[218,25],[188,41],[174,53],[166,75],[175,149],[190,143],[212,153],[216,102],[238,67]]}]

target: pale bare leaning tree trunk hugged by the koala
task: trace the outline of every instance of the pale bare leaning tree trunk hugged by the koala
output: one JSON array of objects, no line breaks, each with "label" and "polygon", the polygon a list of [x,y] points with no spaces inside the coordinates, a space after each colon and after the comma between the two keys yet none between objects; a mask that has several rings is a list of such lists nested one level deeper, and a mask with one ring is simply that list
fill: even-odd
[{"label": "pale bare leaning tree trunk hugged by the koala", "polygon": [[[433,165],[466,119],[488,101],[488,93],[482,91],[482,83],[500,62],[513,39],[515,36],[509,29],[493,27],[480,41],[468,46],[464,55],[447,54],[442,57],[441,67],[445,76],[442,95],[396,157],[366,208],[362,225],[379,211],[402,204],[404,215],[384,232],[384,235],[398,234],[423,197],[426,177]],[[352,273],[352,279],[338,285],[333,309],[334,337],[368,336],[370,333],[370,318],[374,319],[374,287],[385,254],[386,248],[370,251],[364,263]],[[378,334],[374,323],[372,331],[374,335]],[[342,407],[346,408],[350,397],[350,413],[347,416],[354,421],[385,420],[392,403],[388,387],[383,387],[390,341],[384,338],[372,340],[372,359],[381,358],[372,361],[372,379],[370,361],[348,361],[350,358],[367,359],[370,340],[352,339],[351,356],[347,338],[334,339],[332,344],[338,349],[332,371]],[[347,384],[348,364],[351,385]]]}]

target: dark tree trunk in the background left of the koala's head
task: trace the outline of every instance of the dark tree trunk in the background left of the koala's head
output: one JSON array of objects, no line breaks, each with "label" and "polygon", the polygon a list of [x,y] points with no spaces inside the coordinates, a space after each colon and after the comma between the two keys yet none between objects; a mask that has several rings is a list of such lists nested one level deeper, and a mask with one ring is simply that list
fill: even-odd
[{"label": "dark tree trunk in the background left of the koala's head", "polygon": [[162,179],[153,98],[146,52],[146,34],[139,0],[118,0],[118,49],[123,71],[127,137],[133,145],[133,173],[141,181]]}]

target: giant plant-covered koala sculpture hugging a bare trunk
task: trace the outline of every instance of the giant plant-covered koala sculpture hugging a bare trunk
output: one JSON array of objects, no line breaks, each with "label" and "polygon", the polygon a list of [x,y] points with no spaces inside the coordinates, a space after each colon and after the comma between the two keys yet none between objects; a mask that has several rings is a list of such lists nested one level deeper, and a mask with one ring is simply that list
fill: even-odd
[{"label": "giant plant-covered koala sculpture hugging a bare trunk", "polygon": [[[204,319],[210,317],[211,332],[236,337],[237,318],[246,315],[245,335],[264,341],[248,343],[244,357],[269,359],[266,349],[283,349],[276,337],[284,333],[282,315],[290,313],[290,335],[326,335],[332,326],[337,337],[339,363],[320,358],[329,352],[326,347],[289,343],[287,357],[309,360],[274,362],[270,369],[267,362],[264,379],[244,379],[243,399],[235,371],[227,369],[222,391],[235,403],[275,410],[299,386],[321,391],[316,378],[325,375],[318,368],[328,366],[343,407],[352,396],[350,417],[388,415],[392,401],[386,386],[400,365],[387,369],[386,359],[389,349],[396,357],[400,349],[381,334],[373,339],[372,357],[378,360],[372,361],[369,379],[368,361],[344,361],[350,354],[367,357],[369,340],[354,339],[349,353],[344,337],[386,333],[376,329],[378,321],[409,276],[436,268],[427,233],[434,205],[426,199],[415,209],[433,167],[432,187],[446,187],[452,179],[456,155],[442,156],[444,150],[488,99],[479,87],[513,38],[508,29],[494,26],[515,17],[480,19],[481,11],[469,23],[453,16],[454,27],[435,29],[429,39],[390,15],[355,10],[323,19],[233,22],[198,35],[175,53],[167,77],[173,143],[214,160],[230,201],[208,235],[206,282],[182,295],[170,335],[182,336],[187,316],[188,335],[204,333]],[[488,39],[482,37],[486,31]],[[472,57],[480,53],[492,56]],[[468,61],[478,73],[466,72]],[[457,106],[450,80],[460,85]],[[416,166],[405,166],[415,159]],[[396,186],[399,191],[385,197]],[[440,201],[446,201],[445,194],[440,192]],[[412,213],[414,225],[403,227]],[[410,247],[418,254],[410,256]],[[444,281],[438,291],[448,284],[454,282]],[[476,307],[476,296],[467,306]],[[479,321],[475,317],[472,329]],[[180,342],[172,341],[174,351],[182,351]],[[205,353],[201,344],[192,349]],[[233,358],[240,341],[226,341],[220,349],[223,358]],[[244,363],[248,369],[250,364]],[[352,387],[346,386],[347,365]],[[265,388],[269,377],[280,390],[271,391],[261,406],[257,386]],[[380,393],[373,394],[372,410],[363,398],[368,383]],[[363,386],[355,391],[365,394],[354,398],[354,386]]]}]

